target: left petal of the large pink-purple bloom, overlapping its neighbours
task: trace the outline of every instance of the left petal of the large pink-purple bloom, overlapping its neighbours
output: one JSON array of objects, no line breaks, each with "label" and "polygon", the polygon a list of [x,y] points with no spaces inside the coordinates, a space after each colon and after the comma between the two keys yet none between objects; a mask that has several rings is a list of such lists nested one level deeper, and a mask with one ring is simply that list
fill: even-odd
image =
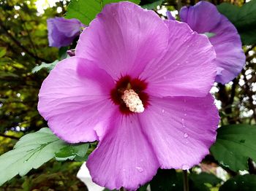
[{"label": "left petal of the large pink-purple bloom, overlapping its neighbours", "polygon": [[109,99],[113,86],[113,79],[91,61],[65,59],[42,83],[39,113],[48,120],[53,133],[65,141],[99,140],[116,107]]}]

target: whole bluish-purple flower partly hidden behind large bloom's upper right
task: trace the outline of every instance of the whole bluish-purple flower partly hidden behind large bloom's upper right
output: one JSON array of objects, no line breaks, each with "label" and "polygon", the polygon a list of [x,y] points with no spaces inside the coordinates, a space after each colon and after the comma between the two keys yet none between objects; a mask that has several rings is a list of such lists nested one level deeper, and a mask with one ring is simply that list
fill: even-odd
[{"label": "whole bluish-purple flower partly hidden behind large bloom's upper right", "polygon": [[234,79],[245,64],[236,27],[218,12],[214,4],[207,1],[200,1],[192,7],[182,7],[180,17],[197,33],[214,35],[209,39],[217,54],[216,82],[225,84]]}]

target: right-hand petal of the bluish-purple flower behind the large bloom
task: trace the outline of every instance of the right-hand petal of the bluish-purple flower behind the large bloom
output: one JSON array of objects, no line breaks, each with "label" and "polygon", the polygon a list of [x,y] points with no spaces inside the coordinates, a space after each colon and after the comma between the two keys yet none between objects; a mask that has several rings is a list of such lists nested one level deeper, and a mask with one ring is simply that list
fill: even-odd
[{"label": "right-hand petal of the bluish-purple flower behind the large bloom", "polygon": [[217,35],[211,37],[210,42],[217,54],[217,67],[222,70],[215,81],[225,84],[238,76],[246,57],[235,26],[225,16],[222,15],[218,28],[214,28],[212,32]]}]

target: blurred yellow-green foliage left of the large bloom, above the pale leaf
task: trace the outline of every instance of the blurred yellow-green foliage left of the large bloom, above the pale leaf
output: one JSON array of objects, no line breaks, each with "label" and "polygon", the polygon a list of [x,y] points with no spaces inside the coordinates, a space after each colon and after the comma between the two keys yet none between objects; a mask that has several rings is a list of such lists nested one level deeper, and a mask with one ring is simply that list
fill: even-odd
[{"label": "blurred yellow-green foliage left of the large bloom, above the pale leaf", "polygon": [[[0,1],[0,133],[6,130],[31,131],[46,126],[37,112],[37,94],[47,72],[31,74],[42,61],[50,63],[58,55],[48,47],[46,19],[56,9],[39,15],[35,1]],[[31,128],[32,127],[32,128]]]}]

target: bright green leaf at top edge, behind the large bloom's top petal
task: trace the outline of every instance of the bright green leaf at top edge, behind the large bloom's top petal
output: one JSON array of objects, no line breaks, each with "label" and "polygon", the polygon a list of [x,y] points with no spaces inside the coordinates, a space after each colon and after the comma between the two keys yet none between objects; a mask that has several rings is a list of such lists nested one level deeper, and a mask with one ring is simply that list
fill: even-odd
[{"label": "bright green leaf at top edge, behind the large bloom's top petal", "polygon": [[[83,24],[89,25],[96,15],[102,11],[105,4],[116,3],[121,0],[72,0],[67,7],[66,18],[77,18]],[[139,4],[139,0],[130,0]]]}]

